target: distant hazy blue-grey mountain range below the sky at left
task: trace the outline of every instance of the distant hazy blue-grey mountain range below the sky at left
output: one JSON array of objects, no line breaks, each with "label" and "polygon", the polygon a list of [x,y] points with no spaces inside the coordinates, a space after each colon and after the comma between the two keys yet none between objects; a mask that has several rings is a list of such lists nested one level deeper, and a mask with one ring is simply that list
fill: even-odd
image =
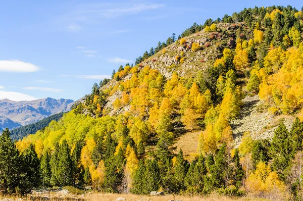
[{"label": "distant hazy blue-grey mountain range below the sky at left", "polygon": [[31,101],[15,102],[0,100],[0,131],[35,123],[48,116],[70,111],[74,100],[43,98]]}]

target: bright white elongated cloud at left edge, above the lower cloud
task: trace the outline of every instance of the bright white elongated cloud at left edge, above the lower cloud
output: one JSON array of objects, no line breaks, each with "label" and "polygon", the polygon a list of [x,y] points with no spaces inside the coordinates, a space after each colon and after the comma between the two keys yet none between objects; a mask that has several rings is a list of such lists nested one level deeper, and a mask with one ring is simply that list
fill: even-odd
[{"label": "bright white elongated cloud at left edge, above the lower cloud", "polygon": [[18,60],[0,60],[0,72],[25,73],[36,72],[38,70],[40,70],[40,68],[31,63],[26,63]]}]

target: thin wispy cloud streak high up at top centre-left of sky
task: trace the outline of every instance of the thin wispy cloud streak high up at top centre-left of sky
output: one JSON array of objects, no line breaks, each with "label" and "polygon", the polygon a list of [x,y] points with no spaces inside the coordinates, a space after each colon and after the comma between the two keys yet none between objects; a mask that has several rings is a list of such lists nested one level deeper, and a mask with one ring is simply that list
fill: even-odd
[{"label": "thin wispy cloud streak high up at top centre-left of sky", "polygon": [[165,8],[164,4],[125,4],[100,3],[82,4],[72,11],[58,17],[60,23],[65,23],[69,31],[78,32],[85,24],[98,24],[104,19],[135,15],[148,10]]}]

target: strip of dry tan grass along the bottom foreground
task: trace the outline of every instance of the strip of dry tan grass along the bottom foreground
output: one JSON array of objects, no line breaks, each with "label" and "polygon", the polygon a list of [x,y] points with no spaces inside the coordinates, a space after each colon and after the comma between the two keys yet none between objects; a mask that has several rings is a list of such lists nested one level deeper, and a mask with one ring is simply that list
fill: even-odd
[{"label": "strip of dry tan grass along the bottom foreground", "polygon": [[[49,196],[45,198],[45,196]],[[92,201],[114,201],[118,197],[123,197],[126,201],[168,201],[168,200],[182,200],[182,201],[231,201],[231,200],[238,200],[238,201],[252,201],[252,200],[266,200],[260,198],[251,198],[251,197],[241,197],[241,198],[229,198],[219,195],[209,195],[209,196],[186,196],[186,195],[165,195],[165,196],[147,196],[147,195],[134,195],[134,194],[111,194],[111,193],[87,193],[85,195],[73,195],[67,194],[63,196],[59,196],[56,193],[52,194],[40,194],[40,195],[28,195],[27,197],[12,197],[12,196],[0,196],[1,199],[6,200],[59,200],[59,201],[85,201],[85,200],[92,200]]]}]

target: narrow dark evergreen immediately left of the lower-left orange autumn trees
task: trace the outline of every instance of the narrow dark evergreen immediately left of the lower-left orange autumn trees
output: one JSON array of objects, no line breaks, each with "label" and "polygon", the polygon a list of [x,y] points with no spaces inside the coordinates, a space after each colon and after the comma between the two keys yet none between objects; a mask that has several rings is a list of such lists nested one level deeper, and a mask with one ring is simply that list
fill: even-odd
[{"label": "narrow dark evergreen immediately left of the lower-left orange autumn trees", "polygon": [[84,183],[84,167],[81,164],[81,143],[76,142],[75,148],[73,150],[72,159],[72,185],[82,185]]}]

